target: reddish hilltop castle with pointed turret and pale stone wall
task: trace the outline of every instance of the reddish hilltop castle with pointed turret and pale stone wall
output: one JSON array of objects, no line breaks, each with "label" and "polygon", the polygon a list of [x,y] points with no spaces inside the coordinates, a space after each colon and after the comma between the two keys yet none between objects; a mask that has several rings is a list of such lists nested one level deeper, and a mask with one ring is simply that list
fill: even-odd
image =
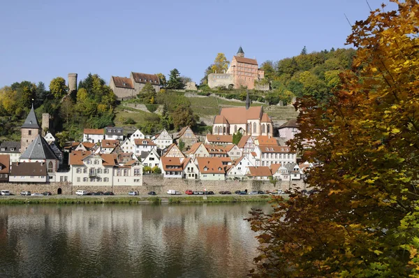
[{"label": "reddish hilltop castle with pointed turret and pale stone wall", "polygon": [[263,70],[258,68],[258,61],[244,57],[244,51],[240,46],[237,54],[233,56],[230,67],[226,73],[210,73],[208,86],[210,88],[224,86],[226,88],[247,87],[247,89],[269,90],[269,85],[256,85],[255,81],[265,78]]}]

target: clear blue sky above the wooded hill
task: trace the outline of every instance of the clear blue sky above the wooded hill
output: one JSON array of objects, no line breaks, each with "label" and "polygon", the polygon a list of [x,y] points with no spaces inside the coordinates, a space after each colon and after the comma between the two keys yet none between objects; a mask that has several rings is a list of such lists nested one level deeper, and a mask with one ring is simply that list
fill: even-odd
[{"label": "clear blue sky above the wooded hill", "polygon": [[[373,9],[388,0],[369,0]],[[345,47],[365,0],[14,0],[0,5],[0,87],[68,73],[163,73],[199,83],[216,54],[278,61]],[[395,9],[394,4],[386,9]]]}]

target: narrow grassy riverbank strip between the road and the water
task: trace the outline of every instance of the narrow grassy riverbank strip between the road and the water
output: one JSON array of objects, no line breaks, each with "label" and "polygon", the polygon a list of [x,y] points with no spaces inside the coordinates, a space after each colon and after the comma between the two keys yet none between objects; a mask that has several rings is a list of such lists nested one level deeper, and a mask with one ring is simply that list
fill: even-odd
[{"label": "narrow grassy riverbank strip between the road and the water", "polygon": [[241,203],[271,200],[269,195],[229,196],[1,196],[1,204],[160,204]]}]

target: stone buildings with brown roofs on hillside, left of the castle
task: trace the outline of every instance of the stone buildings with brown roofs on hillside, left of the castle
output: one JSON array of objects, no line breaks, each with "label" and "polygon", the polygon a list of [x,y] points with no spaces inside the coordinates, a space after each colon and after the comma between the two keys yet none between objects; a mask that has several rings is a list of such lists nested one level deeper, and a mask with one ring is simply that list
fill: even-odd
[{"label": "stone buildings with brown roofs on hillside, left of the castle", "polygon": [[155,74],[133,73],[129,78],[111,76],[109,87],[119,101],[134,98],[140,93],[145,84],[151,84],[156,92],[160,92],[160,80]]}]

